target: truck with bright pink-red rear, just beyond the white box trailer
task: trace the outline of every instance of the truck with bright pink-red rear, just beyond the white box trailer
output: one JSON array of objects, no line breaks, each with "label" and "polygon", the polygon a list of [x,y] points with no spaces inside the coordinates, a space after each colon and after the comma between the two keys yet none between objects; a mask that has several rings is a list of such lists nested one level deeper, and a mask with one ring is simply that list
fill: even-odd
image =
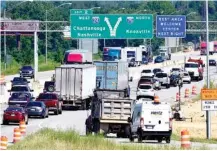
[{"label": "truck with bright pink-red rear, just beyond the white box trailer", "polygon": [[92,64],[92,52],[84,49],[67,50],[63,64]]}]

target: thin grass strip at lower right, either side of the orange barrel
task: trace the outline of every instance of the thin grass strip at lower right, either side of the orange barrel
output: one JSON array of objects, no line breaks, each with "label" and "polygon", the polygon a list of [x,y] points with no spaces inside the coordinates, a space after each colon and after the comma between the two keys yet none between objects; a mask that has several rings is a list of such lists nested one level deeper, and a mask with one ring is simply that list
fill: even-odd
[{"label": "thin grass strip at lower right, either side of the orange barrel", "polygon": [[[180,141],[181,137],[176,135],[176,134],[172,134],[172,140],[175,141]],[[212,139],[204,139],[204,138],[190,138],[191,142],[197,142],[197,143],[207,143],[207,144],[217,144],[217,138],[212,138]]]}]

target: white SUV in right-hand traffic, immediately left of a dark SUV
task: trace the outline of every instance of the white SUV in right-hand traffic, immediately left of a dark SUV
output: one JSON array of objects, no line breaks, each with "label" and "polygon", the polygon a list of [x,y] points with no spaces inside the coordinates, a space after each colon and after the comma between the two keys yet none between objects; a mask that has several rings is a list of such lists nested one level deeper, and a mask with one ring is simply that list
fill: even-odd
[{"label": "white SUV in right-hand traffic, immediately left of a dark SUV", "polygon": [[154,76],[154,79],[159,81],[161,86],[166,86],[166,88],[170,88],[170,77],[165,72],[157,72]]}]

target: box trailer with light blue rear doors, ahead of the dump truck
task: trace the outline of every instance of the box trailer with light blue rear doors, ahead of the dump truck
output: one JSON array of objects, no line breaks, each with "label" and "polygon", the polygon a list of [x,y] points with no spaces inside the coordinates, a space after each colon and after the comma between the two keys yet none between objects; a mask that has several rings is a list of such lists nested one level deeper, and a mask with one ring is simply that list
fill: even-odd
[{"label": "box trailer with light blue rear doors, ahead of the dump truck", "polygon": [[94,61],[96,88],[124,91],[129,96],[129,69],[125,61]]}]

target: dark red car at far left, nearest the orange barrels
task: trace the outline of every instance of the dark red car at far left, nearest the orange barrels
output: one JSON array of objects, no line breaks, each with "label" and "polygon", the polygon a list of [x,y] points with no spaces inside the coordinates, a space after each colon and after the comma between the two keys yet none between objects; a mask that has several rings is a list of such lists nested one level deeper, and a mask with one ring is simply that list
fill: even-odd
[{"label": "dark red car at far left, nearest the orange barrels", "polygon": [[16,123],[25,121],[28,124],[28,114],[25,109],[17,106],[9,106],[3,114],[3,125],[7,125],[10,122]]}]

